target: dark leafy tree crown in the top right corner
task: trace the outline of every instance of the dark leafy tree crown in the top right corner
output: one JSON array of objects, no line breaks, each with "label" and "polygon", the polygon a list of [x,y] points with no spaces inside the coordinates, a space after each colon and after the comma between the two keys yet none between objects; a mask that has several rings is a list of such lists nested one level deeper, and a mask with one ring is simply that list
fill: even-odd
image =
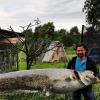
[{"label": "dark leafy tree crown in the top right corner", "polygon": [[94,28],[100,21],[100,0],[86,0],[83,12],[86,14],[86,22]]}]

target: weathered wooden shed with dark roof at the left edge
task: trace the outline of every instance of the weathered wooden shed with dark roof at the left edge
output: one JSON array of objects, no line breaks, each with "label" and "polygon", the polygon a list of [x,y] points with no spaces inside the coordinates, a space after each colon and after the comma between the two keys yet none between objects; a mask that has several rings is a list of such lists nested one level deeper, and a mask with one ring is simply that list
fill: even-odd
[{"label": "weathered wooden shed with dark roof at the left edge", "polygon": [[[18,70],[17,32],[0,29],[0,73]],[[12,45],[12,44],[13,45]]]}]

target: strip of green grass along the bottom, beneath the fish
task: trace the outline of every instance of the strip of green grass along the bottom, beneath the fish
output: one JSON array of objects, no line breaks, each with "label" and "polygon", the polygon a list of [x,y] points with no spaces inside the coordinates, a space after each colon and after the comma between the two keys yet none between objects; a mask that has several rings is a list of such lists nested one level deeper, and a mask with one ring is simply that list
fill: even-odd
[{"label": "strip of green grass along the bottom, beneath the fish", "polygon": [[[51,93],[49,97],[45,95],[43,92],[38,92],[36,94],[17,94],[13,96],[6,96],[5,99],[2,100],[65,100],[65,94],[57,94]],[[66,100],[69,98],[66,96]]]}]

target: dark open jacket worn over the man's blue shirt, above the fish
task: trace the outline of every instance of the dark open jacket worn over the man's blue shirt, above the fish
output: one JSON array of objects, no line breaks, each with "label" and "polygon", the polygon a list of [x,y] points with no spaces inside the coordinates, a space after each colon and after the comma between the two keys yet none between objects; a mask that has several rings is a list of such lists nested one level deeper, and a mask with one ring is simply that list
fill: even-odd
[{"label": "dark open jacket worn over the man's blue shirt, above the fish", "polygon": [[[68,63],[67,66],[68,69],[75,69],[76,58],[77,57],[73,57],[72,60]],[[97,74],[96,63],[93,60],[91,60],[89,57],[87,57],[86,70],[93,71],[94,75]]]}]

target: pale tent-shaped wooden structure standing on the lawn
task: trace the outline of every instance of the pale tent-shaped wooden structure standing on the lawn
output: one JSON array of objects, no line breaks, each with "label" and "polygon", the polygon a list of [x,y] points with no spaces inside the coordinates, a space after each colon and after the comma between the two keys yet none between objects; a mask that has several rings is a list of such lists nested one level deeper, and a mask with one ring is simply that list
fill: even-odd
[{"label": "pale tent-shaped wooden structure standing on the lawn", "polygon": [[59,41],[52,41],[42,62],[68,61],[64,46]]}]

